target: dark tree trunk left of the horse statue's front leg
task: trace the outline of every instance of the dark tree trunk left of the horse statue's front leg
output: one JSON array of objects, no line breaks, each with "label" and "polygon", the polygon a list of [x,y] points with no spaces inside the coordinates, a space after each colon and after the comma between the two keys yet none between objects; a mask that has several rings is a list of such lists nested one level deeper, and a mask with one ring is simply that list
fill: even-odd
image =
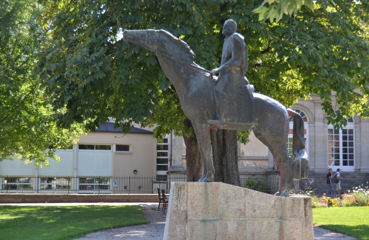
[{"label": "dark tree trunk left of the horse statue's front leg", "polygon": [[[186,118],[183,123],[185,126],[193,128],[190,119]],[[201,159],[195,131],[190,133],[188,137],[183,135],[183,139],[184,144],[186,144],[187,181],[197,182],[204,174],[204,165]]]}]

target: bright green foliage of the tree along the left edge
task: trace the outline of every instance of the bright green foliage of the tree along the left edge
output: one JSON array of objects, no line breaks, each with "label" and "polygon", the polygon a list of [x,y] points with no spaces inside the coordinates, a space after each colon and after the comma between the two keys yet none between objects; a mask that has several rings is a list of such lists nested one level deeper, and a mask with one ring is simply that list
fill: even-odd
[{"label": "bright green foliage of the tree along the left edge", "polygon": [[45,36],[36,22],[39,16],[35,1],[0,2],[0,161],[16,155],[25,163],[48,165],[47,157],[60,159],[57,148],[75,144],[84,133],[75,124],[57,128],[58,113],[32,72],[35,50]]}]

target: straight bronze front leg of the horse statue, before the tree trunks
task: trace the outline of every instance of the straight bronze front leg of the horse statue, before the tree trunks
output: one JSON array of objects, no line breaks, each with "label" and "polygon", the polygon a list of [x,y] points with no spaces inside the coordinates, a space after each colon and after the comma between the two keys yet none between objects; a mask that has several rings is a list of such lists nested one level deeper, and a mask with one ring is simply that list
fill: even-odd
[{"label": "straight bronze front leg of the horse statue, before the tree trunks", "polygon": [[194,129],[199,143],[201,158],[205,159],[204,175],[199,182],[211,182],[215,171],[211,156],[210,126],[208,124],[195,124]]}]

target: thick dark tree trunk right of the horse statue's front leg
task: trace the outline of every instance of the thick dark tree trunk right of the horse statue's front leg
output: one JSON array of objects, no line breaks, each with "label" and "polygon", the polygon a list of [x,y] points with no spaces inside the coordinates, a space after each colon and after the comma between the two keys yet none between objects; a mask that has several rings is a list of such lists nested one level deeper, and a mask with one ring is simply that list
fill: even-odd
[{"label": "thick dark tree trunk right of the horse statue's front leg", "polygon": [[211,130],[211,145],[215,168],[214,182],[240,186],[237,131]]}]

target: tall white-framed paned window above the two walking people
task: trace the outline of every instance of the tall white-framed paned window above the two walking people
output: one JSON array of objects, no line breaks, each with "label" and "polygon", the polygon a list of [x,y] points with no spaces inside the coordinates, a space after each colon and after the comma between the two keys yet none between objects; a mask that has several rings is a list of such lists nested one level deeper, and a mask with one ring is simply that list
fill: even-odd
[{"label": "tall white-framed paned window above the two walking people", "polygon": [[[339,111],[336,111],[339,113]],[[352,117],[345,119],[346,127],[328,126],[328,166],[355,170],[355,125]]]}]

